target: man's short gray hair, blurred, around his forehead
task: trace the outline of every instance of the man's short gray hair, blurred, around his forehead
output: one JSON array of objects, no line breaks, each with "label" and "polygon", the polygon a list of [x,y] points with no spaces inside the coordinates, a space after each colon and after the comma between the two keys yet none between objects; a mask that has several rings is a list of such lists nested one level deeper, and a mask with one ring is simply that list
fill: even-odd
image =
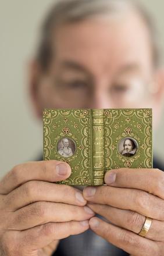
[{"label": "man's short gray hair, blurred, around his forehead", "polygon": [[37,61],[43,71],[49,67],[52,58],[52,29],[60,24],[74,23],[91,16],[112,15],[134,9],[144,20],[150,35],[152,59],[155,67],[161,63],[158,33],[149,14],[133,0],[56,0],[42,24],[41,38],[38,45]]}]

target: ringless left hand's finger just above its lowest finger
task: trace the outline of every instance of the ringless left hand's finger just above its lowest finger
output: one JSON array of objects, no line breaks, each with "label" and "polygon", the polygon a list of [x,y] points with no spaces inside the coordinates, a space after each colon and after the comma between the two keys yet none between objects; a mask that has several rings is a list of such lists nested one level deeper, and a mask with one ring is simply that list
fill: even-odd
[{"label": "ringless left hand's finger just above its lowest finger", "polygon": [[84,221],[94,216],[88,207],[54,202],[35,202],[12,214],[8,229],[25,230],[48,222]]}]

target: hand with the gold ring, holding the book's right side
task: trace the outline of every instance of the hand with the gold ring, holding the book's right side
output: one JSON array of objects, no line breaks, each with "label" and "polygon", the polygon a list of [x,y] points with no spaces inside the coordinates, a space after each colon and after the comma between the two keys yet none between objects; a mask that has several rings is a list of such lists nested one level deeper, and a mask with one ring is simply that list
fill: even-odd
[{"label": "hand with the gold ring, holding the book's right side", "polygon": [[[164,173],[157,169],[117,169],[105,175],[108,186],[87,187],[88,206],[105,217],[90,219],[91,229],[134,256],[164,255]],[[145,237],[138,235],[145,222]],[[110,223],[109,223],[110,222]]]}]

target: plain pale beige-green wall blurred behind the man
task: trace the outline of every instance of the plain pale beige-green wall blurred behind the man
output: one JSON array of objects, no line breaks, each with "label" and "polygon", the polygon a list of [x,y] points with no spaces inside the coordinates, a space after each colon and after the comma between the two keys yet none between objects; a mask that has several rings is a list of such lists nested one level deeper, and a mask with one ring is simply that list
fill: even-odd
[{"label": "plain pale beige-green wall blurred behind the man", "polygon": [[[42,126],[32,113],[27,66],[35,49],[38,26],[54,0],[0,0],[0,176],[42,152]],[[154,15],[164,42],[163,0],[140,0]],[[154,149],[163,161],[163,125],[154,134]],[[164,161],[163,161],[164,162]]]}]

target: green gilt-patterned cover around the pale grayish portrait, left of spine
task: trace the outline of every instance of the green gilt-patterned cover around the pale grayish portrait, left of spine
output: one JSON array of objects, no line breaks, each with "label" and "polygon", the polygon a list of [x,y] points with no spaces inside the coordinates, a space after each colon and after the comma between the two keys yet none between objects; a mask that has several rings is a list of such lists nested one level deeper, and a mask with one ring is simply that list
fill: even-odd
[{"label": "green gilt-patterned cover around the pale grayish portrait, left of spine", "polygon": [[[72,174],[69,179],[60,183],[68,185],[93,184],[91,182],[90,169],[92,168],[89,158],[89,155],[91,155],[90,110],[45,109],[44,113],[44,159],[65,161],[72,168]],[[50,116],[51,118],[49,118]],[[67,126],[65,126],[65,123],[67,123]],[[67,159],[62,157],[57,150],[58,141],[65,137],[70,138],[76,144],[74,155]]]}]

